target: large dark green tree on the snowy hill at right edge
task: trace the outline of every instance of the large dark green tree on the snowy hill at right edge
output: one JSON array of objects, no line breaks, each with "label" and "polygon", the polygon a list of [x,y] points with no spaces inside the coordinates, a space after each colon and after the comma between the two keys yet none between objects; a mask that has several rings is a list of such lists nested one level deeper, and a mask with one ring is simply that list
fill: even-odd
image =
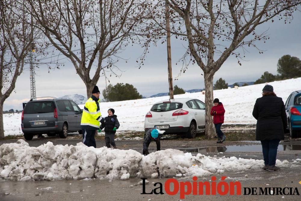
[{"label": "large dark green tree on the snowy hill at right edge", "polygon": [[301,61],[297,57],[284,55],[278,60],[277,72],[282,80],[301,77]]}]

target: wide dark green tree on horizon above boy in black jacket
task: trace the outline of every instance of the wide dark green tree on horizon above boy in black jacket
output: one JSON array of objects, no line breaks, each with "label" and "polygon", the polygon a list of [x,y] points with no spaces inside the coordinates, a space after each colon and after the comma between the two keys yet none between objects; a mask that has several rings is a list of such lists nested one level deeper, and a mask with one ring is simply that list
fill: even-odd
[{"label": "wide dark green tree on horizon above boy in black jacket", "polygon": [[109,84],[107,89],[102,91],[102,95],[104,96],[105,100],[110,102],[142,98],[142,96],[137,92],[137,89],[128,83],[117,83],[115,86]]}]

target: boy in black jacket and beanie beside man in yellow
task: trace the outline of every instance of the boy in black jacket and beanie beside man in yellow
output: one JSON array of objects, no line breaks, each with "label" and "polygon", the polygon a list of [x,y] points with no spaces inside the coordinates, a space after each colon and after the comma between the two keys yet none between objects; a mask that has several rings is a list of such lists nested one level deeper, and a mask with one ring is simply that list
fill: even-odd
[{"label": "boy in black jacket and beanie beside man in yellow", "polygon": [[119,128],[120,124],[117,119],[117,116],[114,115],[115,110],[113,108],[110,108],[108,110],[108,116],[104,118],[104,123],[101,124],[100,129],[104,128],[104,140],[106,142],[107,148],[110,148],[110,144],[116,149],[116,144],[115,144],[115,133],[116,129]]}]

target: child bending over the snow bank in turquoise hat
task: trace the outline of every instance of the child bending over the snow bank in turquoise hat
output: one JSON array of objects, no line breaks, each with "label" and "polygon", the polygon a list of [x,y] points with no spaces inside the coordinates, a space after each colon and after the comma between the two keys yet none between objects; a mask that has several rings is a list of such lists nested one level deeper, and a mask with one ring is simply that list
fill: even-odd
[{"label": "child bending over the snow bank in turquoise hat", "polygon": [[156,142],[157,145],[157,151],[160,151],[160,138],[163,136],[163,133],[165,130],[159,130],[156,128],[151,128],[147,130],[145,133],[144,141],[143,141],[143,155],[148,155],[148,146],[151,142]]}]

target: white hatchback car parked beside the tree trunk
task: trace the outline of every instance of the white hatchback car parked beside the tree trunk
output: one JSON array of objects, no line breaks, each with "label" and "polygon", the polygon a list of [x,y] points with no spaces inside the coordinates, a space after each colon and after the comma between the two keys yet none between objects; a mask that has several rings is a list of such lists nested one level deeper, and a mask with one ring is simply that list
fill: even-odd
[{"label": "white hatchback car parked beside the tree trunk", "polygon": [[179,98],[155,103],[145,115],[144,131],[165,130],[164,134],[186,134],[194,138],[205,130],[205,103],[198,99]]}]

